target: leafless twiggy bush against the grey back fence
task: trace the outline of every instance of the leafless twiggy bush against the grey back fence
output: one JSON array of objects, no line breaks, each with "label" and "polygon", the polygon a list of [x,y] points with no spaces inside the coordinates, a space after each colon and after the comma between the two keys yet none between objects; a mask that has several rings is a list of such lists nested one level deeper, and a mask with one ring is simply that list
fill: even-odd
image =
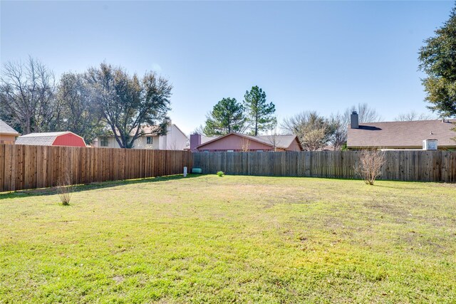
[{"label": "leafless twiggy bush against the grey back fence", "polygon": [[385,152],[381,150],[361,150],[359,162],[356,166],[356,174],[358,174],[366,184],[373,185],[375,179],[380,176],[385,161]]}]

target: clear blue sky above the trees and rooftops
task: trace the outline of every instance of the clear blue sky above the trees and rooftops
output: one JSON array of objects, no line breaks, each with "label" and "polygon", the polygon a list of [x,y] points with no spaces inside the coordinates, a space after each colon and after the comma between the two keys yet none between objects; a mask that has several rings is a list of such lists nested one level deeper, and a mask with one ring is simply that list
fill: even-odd
[{"label": "clear blue sky above the trees and rooftops", "polygon": [[423,40],[452,1],[1,1],[0,59],[39,58],[56,76],[102,61],[174,85],[173,122],[190,132],[224,97],[266,91],[279,120],[368,103],[393,120],[427,112]]}]

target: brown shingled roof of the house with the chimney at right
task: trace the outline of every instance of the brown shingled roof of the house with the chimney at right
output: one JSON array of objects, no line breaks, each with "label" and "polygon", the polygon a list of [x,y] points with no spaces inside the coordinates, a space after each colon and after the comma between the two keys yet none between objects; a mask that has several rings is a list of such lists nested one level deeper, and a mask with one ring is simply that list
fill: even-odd
[{"label": "brown shingled roof of the house with the chimney at right", "polygon": [[438,140],[439,147],[456,147],[456,120],[365,122],[358,129],[348,127],[347,147],[423,147],[423,140]]}]

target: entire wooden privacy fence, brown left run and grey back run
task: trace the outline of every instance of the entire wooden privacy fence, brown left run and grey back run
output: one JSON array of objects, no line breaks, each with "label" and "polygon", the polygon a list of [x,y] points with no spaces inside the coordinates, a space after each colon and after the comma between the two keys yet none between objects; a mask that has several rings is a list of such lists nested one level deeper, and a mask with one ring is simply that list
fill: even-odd
[{"label": "entire wooden privacy fence, brown left run and grey back run", "polygon": [[[357,151],[187,152],[0,145],[0,191],[158,177],[183,167],[227,174],[356,178]],[[456,182],[456,152],[387,151],[379,179]]]}]

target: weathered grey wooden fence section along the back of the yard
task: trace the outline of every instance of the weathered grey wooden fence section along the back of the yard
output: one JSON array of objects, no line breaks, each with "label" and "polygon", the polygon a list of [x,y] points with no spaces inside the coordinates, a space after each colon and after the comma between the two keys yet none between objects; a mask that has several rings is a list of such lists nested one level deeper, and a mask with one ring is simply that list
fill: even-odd
[{"label": "weathered grey wooden fence section along the back of the yard", "polygon": [[[197,152],[193,167],[203,173],[277,177],[357,178],[360,152]],[[456,152],[386,151],[379,179],[456,182]]]}]

